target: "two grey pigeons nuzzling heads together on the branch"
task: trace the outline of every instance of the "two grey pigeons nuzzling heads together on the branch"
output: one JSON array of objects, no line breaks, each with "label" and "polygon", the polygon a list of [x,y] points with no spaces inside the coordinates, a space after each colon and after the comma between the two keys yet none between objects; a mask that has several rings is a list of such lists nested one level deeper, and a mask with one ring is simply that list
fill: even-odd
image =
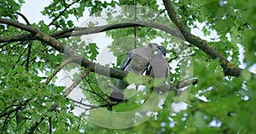
[{"label": "two grey pigeons nuzzling heads together on the branch", "polygon": [[[169,90],[169,85],[166,84],[166,79],[169,75],[169,64],[164,56],[166,56],[166,47],[159,46],[156,43],[149,43],[148,47],[138,47],[131,50],[123,60],[120,70],[131,71],[141,75],[146,70],[146,75],[162,80],[152,90],[165,92]],[[127,82],[116,80],[116,87],[111,92],[109,99],[113,102],[122,102],[124,89],[128,86]]]}]

